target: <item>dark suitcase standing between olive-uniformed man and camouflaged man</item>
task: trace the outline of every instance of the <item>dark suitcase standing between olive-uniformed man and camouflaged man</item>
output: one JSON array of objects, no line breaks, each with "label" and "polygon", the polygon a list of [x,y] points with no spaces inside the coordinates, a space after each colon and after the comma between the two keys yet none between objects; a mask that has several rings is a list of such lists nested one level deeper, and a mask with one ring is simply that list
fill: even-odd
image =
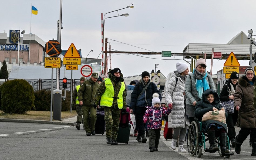
[{"label": "dark suitcase standing between olive-uniformed man and camouflaged man", "polygon": [[105,133],[105,129],[106,129],[106,126],[105,126],[105,111],[102,111],[102,110],[97,110],[97,120],[96,120],[96,123],[95,123],[95,133],[96,134],[104,134]]}]

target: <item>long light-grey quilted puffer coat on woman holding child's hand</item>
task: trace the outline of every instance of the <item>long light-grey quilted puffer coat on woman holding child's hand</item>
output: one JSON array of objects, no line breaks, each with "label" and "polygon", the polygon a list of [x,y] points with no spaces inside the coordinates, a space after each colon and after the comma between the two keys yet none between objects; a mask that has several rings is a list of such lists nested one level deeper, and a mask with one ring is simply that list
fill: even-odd
[{"label": "long light-grey quilted puffer coat on woman holding child's hand", "polygon": [[[176,78],[178,78],[176,84]],[[175,86],[176,84],[176,86]],[[166,88],[166,105],[173,103],[173,110],[168,116],[168,128],[184,128],[189,125],[188,117],[185,113],[184,95],[185,83],[175,73],[171,73],[168,87]]]}]

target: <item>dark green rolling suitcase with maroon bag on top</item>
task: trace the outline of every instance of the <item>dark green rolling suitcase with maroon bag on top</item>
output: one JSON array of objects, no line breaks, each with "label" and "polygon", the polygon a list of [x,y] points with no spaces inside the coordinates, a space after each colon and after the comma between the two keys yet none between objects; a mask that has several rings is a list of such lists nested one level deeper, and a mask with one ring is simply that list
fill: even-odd
[{"label": "dark green rolling suitcase with maroon bag on top", "polygon": [[128,144],[130,138],[131,124],[129,123],[130,109],[121,110],[119,129],[117,132],[116,141],[119,143]]}]

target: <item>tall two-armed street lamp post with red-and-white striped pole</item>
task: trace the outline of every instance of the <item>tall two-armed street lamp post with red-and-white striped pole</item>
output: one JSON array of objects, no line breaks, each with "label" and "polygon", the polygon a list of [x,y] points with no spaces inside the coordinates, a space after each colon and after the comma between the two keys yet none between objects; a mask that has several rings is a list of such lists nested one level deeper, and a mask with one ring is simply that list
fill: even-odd
[{"label": "tall two-armed street lamp post with red-and-white striped pole", "polygon": [[[130,6],[127,6],[127,7],[125,7],[125,8],[121,8],[121,9],[117,9],[117,10],[115,10],[115,11],[117,11],[117,14],[118,14],[118,16],[112,16],[112,17],[107,17],[107,18],[113,18],[113,17],[119,17],[119,16],[129,16],[129,14],[128,13],[125,13],[125,14],[122,14],[122,15],[119,15],[119,13],[118,13],[118,11],[119,10],[122,10],[122,9],[126,9],[126,8],[133,8],[134,7],[134,5],[130,5]],[[111,12],[115,12],[115,11],[111,11]],[[111,12],[107,12],[107,13],[111,13]],[[103,47],[104,47],[104,25],[105,25],[105,19],[107,19],[107,18],[105,18],[105,15],[107,14],[107,13],[105,13],[104,14],[104,16],[103,16],[103,13],[101,13],[101,55],[102,55],[102,70],[101,70],[101,75],[102,75],[102,77],[103,77],[103,68],[104,68],[104,70],[105,70],[105,72],[106,72],[106,63],[107,63],[107,53],[105,53],[105,67],[104,67],[104,65],[103,65]]]}]

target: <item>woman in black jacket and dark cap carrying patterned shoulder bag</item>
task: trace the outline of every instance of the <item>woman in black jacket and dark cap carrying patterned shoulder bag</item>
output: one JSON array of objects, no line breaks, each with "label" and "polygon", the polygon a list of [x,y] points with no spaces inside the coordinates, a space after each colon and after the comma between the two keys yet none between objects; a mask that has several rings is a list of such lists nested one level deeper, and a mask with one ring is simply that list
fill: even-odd
[{"label": "woman in black jacket and dark cap carrying patterned shoulder bag", "polygon": [[[224,84],[221,93],[220,100],[221,101],[229,101],[234,100],[235,88],[238,85],[239,75],[237,72],[232,72],[230,78]],[[231,92],[231,93],[230,93]],[[238,111],[234,110],[234,113],[228,114],[226,119],[226,123],[228,126],[228,137],[232,144],[232,147],[235,147],[235,124],[237,122]]]}]

